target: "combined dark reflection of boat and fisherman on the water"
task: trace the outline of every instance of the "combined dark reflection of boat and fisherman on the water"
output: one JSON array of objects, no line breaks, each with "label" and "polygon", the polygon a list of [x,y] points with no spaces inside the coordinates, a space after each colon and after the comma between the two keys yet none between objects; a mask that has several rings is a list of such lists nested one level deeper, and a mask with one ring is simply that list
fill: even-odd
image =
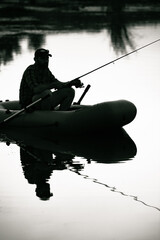
[{"label": "combined dark reflection of boat and fisherman on the water", "polygon": [[48,183],[54,170],[70,169],[79,173],[84,168],[74,162],[75,156],[101,163],[118,163],[136,155],[136,145],[124,129],[107,135],[85,138],[54,138],[30,128],[7,128],[0,132],[0,140],[20,147],[24,177],[36,185],[36,196],[49,200],[53,196]]}]

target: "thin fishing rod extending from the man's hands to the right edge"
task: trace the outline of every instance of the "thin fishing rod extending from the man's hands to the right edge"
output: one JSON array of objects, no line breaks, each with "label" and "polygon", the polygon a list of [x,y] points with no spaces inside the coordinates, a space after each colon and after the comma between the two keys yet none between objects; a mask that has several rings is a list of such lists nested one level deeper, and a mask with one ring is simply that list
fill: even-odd
[{"label": "thin fishing rod extending from the man's hands to the right edge", "polygon": [[[142,47],[140,47],[140,48],[137,48],[137,49],[133,50],[132,52],[126,53],[125,55],[122,55],[121,57],[118,57],[118,58],[116,58],[116,59],[114,59],[114,60],[112,60],[112,61],[110,61],[110,62],[108,62],[108,63],[106,63],[106,64],[104,64],[104,65],[101,65],[100,67],[97,67],[97,68],[95,68],[95,69],[93,69],[93,70],[91,70],[91,71],[89,71],[89,72],[87,72],[87,73],[79,76],[78,78],[85,77],[85,76],[87,76],[88,74],[90,74],[90,73],[92,73],[92,72],[95,72],[95,71],[97,71],[97,70],[99,70],[99,69],[101,69],[101,68],[103,68],[103,67],[105,67],[105,66],[107,66],[107,65],[109,65],[109,64],[115,63],[116,61],[118,61],[118,60],[120,60],[120,59],[122,59],[122,58],[124,58],[124,57],[126,57],[126,56],[129,56],[129,55],[131,55],[131,54],[133,54],[133,53],[135,53],[135,52],[138,52],[139,50],[141,50],[141,49],[143,49],[143,48],[146,48],[146,47],[148,47],[148,46],[150,46],[150,45],[152,45],[152,44],[154,44],[154,43],[156,43],[156,42],[158,42],[158,41],[160,41],[160,38],[157,39],[157,40],[155,40],[155,41],[153,41],[153,42],[151,42],[151,43],[148,43],[148,44],[146,44],[146,45],[144,45],[144,46],[142,46]],[[75,79],[78,79],[78,78],[75,78]]]}]

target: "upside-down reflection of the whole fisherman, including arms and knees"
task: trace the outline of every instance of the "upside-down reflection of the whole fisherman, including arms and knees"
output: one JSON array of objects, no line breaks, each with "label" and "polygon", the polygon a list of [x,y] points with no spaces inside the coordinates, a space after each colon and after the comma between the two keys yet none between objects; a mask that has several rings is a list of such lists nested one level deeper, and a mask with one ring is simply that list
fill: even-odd
[{"label": "upside-down reflection of the whole fisherman, including arms and knees", "polygon": [[54,153],[36,149],[33,147],[21,147],[20,159],[25,178],[30,184],[36,184],[36,196],[41,200],[49,200],[53,194],[50,192],[48,180],[53,170],[66,169],[66,165],[72,164],[74,155],[66,153]]}]

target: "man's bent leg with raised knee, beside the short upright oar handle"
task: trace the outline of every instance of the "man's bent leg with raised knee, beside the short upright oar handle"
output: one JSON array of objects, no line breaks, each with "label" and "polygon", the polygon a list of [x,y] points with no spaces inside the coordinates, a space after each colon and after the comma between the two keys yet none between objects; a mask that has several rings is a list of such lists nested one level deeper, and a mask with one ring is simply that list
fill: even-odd
[{"label": "man's bent leg with raised knee, beside the short upright oar handle", "polygon": [[62,88],[52,93],[52,108],[60,104],[59,110],[68,110],[73,102],[75,91],[73,88]]}]

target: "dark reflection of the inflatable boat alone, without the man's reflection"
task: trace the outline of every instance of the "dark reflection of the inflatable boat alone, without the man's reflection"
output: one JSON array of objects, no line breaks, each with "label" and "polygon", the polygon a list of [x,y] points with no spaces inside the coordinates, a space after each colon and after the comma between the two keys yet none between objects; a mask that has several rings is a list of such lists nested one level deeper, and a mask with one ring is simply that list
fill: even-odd
[{"label": "dark reflection of the inflatable boat alone, without the man's reflection", "polygon": [[2,141],[29,146],[41,151],[70,154],[104,163],[133,158],[136,145],[124,129],[108,131],[105,135],[84,137],[54,137],[33,128],[7,128],[1,130]]}]

